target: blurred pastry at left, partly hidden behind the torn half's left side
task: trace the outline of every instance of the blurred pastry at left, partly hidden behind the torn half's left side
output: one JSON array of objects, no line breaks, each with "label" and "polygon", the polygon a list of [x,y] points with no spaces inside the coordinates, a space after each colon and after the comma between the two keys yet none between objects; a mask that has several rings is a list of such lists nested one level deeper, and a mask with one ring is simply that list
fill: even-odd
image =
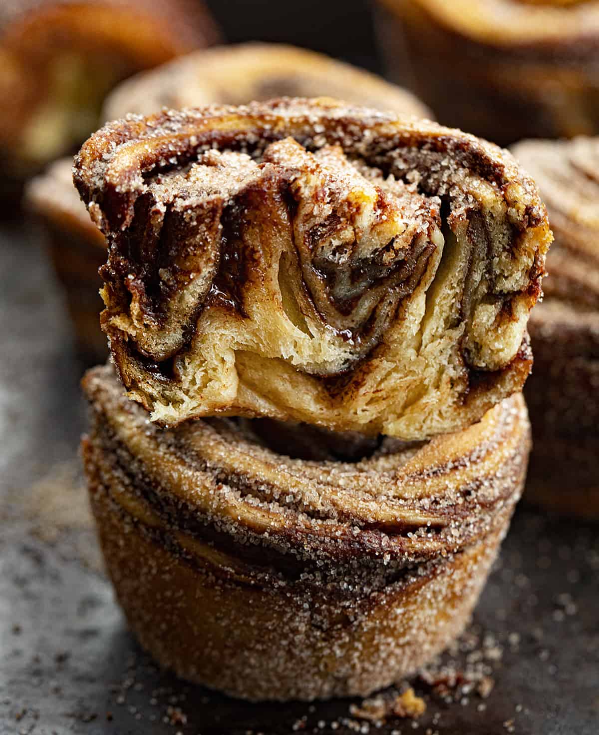
[{"label": "blurred pastry at left, partly hidden behind the torn half's left side", "polygon": [[43,228],[79,353],[89,365],[104,362],[107,348],[98,320],[102,306],[98,268],[106,262],[106,240],[73,186],[73,159],[59,159],[28,182],[25,204]]}]

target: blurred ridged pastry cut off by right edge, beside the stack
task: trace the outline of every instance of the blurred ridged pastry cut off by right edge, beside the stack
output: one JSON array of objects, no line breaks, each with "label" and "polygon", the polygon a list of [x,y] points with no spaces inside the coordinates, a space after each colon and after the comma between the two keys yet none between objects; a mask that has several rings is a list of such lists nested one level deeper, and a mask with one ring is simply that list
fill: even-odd
[{"label": "blurred ridged pastry cut off by right edge, beside the stack", "polygon": [[525,141],[513,151],[536,179],[555,234],[545,300],[529,320],[526,497],[599,519],[599,138]]}]

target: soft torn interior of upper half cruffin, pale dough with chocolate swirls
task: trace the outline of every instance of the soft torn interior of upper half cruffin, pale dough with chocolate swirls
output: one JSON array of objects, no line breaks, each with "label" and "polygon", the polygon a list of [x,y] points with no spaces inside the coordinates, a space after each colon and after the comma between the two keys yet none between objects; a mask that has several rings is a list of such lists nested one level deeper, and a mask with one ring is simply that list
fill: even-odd
[{"label": "soft torn interior of upper half cruffin, pale dough with chocolate swirls", "polygon": [[[281,182],[291,202],[281,201]],[[159,212],[157,202],[166,202]],[[487,298],[487,241],[469,241],[467,221],[451,229],[440,205],[415,184],[352,164],[339,148],[311,154],[292,139],[266,148],[261,164],[210,151],[184,173],[153,182],[139,207],[144,247],[171,243],[177,288],[165,319],[148,318],[141,302],[151,299],[149,289],[133,287],[129,315],[104,320],[142,354],[157,362],[172,357],[177,380],[154,399],[153,419],[174,423],[241,404],[316,423],[349,412],[356,426],[369,426],[384,415],[388,433],[421,437],[445,402],[441,420],[450,420],[446,396],[468,387],[464,352],[483,370],[506,365],[528,309],[502,320],[501,302]],[[233,229],[223,224],[228,208]],[[512,264],[502,262],[495,216],[506,212],[491,212],[485,223],[498,277],[517,287]],[[173,279],[173,269],[164,270],[154,285],[163,297]],[[198,301],[206,300],[178,354]],[[355,389],[346,377],[353,370]],[[313,390],[314,376],[329,378],[333,390],[338,383],[338,397],[327,387]],[[142,390],[143,382],[140,372]]]}]

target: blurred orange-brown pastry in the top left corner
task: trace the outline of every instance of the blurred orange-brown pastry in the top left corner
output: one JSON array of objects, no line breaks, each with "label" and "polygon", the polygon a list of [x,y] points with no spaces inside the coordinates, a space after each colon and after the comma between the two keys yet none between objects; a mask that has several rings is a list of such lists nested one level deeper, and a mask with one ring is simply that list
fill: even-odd
[{"label": "blurred orange-brown pastry in the top left corner", "polygon": [[200,0],[1,3],[3,189],[74,151],[117,82],[216,40]]}]

